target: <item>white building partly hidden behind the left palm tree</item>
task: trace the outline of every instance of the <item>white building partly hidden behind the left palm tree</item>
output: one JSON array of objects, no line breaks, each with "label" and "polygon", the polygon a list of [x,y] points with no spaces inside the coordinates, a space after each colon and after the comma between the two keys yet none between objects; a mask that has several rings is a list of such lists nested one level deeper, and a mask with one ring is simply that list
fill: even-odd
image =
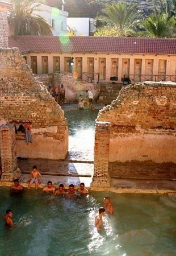
[{"label": "white building partly hidden behind the left palm tree", "polygon": [[67,34],[67,11],[62,11],[55,7],[43,5],[43,3],[33,3],[33,5],[38,6],[37,10],[33,11],[33,14],[40,15],[47,21],[47,23],[52,27],[52,33],[54,36]]}]

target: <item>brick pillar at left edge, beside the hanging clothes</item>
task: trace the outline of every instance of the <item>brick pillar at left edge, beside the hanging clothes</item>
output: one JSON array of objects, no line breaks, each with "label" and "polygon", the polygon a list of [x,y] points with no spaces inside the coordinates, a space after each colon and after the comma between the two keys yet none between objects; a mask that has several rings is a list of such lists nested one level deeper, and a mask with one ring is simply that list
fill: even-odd
[{"label": "brick pillar at left edge, beside the hanging clothes", "polygon": [[16,158],[15,127],[13,125],[0,126],[0,144],[2,162],[1,181],[13,181],[15,178],[20,177]]}]

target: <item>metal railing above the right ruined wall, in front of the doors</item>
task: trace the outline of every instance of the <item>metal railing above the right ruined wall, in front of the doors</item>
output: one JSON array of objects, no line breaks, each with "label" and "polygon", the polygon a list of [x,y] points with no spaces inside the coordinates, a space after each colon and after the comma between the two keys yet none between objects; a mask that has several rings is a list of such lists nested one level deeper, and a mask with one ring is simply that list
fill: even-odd
[{"label": "metal railing above the right ruined wall, in front of the doors", "polygon": [[129,75],[131,82],[140,82],[140,81],[171,81],[176,82],[176,75]]}]

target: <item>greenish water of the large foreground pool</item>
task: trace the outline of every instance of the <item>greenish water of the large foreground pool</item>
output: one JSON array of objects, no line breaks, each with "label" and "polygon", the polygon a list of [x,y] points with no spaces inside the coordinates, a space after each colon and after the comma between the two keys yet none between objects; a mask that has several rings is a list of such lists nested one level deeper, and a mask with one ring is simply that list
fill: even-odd
[{"label": "greenish water of the large foreground pool", "polygon": [[[15,228],[1,220],[1,256],[146,256],[176,253],[176,200],[168,195],[91,192],[90,197],[64,200],[27,191],[10,196],[0,187],[0,211],[14,213]],[[104,217],[104,230],[94,229],[94,217],[104,196],[115,207]]]}]

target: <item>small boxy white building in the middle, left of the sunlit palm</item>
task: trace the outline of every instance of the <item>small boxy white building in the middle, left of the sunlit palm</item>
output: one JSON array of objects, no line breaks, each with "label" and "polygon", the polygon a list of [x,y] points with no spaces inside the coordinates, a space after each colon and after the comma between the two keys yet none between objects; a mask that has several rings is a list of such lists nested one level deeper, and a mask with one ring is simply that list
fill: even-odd
[{"label": "small boxy white building in the middle, left of the sunlit palm", "polygon": [[76,32],[76,36],[93,36],[96,22],[92,18],[67,18],[67,26]]}]

